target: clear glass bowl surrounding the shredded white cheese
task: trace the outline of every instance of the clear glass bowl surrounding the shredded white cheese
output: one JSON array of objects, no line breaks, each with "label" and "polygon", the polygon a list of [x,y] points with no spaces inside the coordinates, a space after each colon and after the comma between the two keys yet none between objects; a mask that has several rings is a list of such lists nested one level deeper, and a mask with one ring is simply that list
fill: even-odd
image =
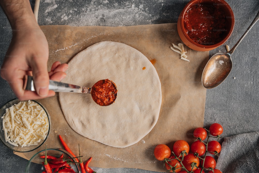
[{"label": "clear glass bowl surrounding the shredded white cheese", "polygon": [[11,107],[12,105],[15,105],[17,103],[19,103],[20,101],[16,98],[16,99],[12,99],[10,101],[8,101],[7,103],[5,103],[4,106],[2,106],[2,108],[0,109],[0,131],[1,131],[1,134],[0,134],[0,139],[1,139],[1,142],[8,148],[10,148],[11,150],[13,151],[17,151],[17,152],[29,152],[29,151],[33,151],[37,148],[39,148],[48,138],[48,135],[51,131],[51,117],[49,115],[49,112],[48,110],[38,101],[35,101],[35,100],[31,100],[35,103],[38,103],[42,108],[43,110],[46,112],[47,114],[47,118],[48,118],[48,123],[49,123],[49,128],[48,128],[48,132],[47,132],[47,136],[46,138],[43,140],[41,140],[40,142],[38,142],[37,145],[31,145],[31,146],[24,146],[24,147],[21,147],[19,144],[18,146],[14,146],[12,144],[10,144],[9,142],[6,142],[5,141],[5,135],[4,135],[4,130],[3,130],[3,119],[2,119],[2,116],[5,114],[5,109],[6,108],[9,108]]}]

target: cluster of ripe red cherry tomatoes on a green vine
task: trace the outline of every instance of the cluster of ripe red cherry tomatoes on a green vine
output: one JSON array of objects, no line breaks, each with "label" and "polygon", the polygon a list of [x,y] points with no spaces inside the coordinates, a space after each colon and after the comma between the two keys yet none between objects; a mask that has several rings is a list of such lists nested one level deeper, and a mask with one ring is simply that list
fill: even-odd
[{"label": "cluster of ripe red cherry tomatoes on a green vine", "polygon": [[[207,132],[210,135],[207,136]],[[216,140],[223,132],[220,124],[211,124],[209,130],[198,127],[194,130],[193,136],[195,141],[189,144],[184,140],[178,140],[171,149],[165,144],[159,144],[154,149],[155,158],[159,161],[164,161],[164,165],[168,172],[179,173],[222,173],[215,169],[216,161],[214,156],[219,156],[221,145]],[[207,140],[205,140],[207,139]],[[189,153],[190,151],[190,153]],[[208,153],[211,154],[207,155]],[[205,170],[205,171],[204,171]]]}]

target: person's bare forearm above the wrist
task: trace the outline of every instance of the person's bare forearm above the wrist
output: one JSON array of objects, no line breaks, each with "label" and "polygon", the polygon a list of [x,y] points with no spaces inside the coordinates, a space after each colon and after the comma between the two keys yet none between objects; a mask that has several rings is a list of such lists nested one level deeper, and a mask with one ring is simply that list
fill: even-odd
[{"label": "person's bare forearm above the wrist", "polygon": [[0,4],[13,29],[37,25],[29,0],[0,0]]}]

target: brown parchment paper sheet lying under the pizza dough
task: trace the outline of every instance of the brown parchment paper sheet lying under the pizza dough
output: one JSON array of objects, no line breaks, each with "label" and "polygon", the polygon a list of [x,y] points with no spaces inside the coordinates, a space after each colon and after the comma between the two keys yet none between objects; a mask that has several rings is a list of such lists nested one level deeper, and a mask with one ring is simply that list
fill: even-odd
[{"label": "brown parchment paper sheet lying under the pizza dough", "polygon": [[[202,86],[201,75],[208,52],[193,51],[185,46],[190,62],[179,59],[179,54],[170,50],[171,43],[181,42],[175,23],[125,27],[57,25],[41,26],[41,29],[49,43],[48,70],[55,61],[68,63],[77,53],[94,43],[117,41],[134,47],[149,60],[156,59],[154,67],[162,87],[162,105],[157,124],[142,140],[126,148],[106,146],[75,133],[64,118],[58,93],[54,97],[39,100],[48,109],[52,119],[51,134],[46,141],[48,148],[63,148],[58,139],[60,134],[76,155],[79,155],[80,143],[83,161],[93,157],[90,166],[162,172],[165,171],[163,163],[156,161],[153,154],[155,146],[163,143],[172,148],[172,144],[180,139],[191,143],[193,130],[203,127],[206,89]],[[82,75],[80,69],[78,75]],[[24,153],[24,158],[31,158],[44,149],[45,145],[42,145],[35,151]]]}]

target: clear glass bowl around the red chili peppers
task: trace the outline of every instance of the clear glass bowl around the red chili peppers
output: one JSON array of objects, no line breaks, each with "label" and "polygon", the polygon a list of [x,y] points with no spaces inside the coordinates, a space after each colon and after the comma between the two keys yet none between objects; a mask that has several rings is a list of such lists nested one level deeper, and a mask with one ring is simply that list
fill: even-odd
[{"label": "clear glass bowl around the red chili peppers", "polygon": [[[49,148],[47,149],[47,155],[54,156],[59,158],[61,155],[64,155],[64,158],[73,158],[66,150],[59,149],[59,148]],[[35,172],[43,172],[44,166],[42,165],[42,162],[45,161],[44,158],[40,158],[40,156],[45,156],[45,150],[39,151],[38,153],[34,154],[32,158],[28,161],[28,164],[25,169],[25,173],[35,173]],[[72,159],[73,162],[76,162],[75,159]],[[70,163],[69,166],[75,171],[79,172],[78,165],[76,163]]]}]

